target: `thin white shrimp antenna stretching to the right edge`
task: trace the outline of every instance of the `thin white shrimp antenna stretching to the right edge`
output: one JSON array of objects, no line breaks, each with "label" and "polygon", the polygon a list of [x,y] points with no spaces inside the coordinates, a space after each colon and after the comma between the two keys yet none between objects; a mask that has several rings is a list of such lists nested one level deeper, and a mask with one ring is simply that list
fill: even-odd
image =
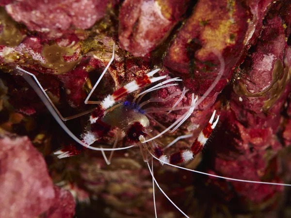
[{"label": "thin white shrimp antenna stretching to the right edge", "polygon": [[207,172],[195,171],[195,170],[191,170],[191,169],[188,169],[188,168],[184,168],[184,167],[180,167],[180,166],[177,166],[177,165],[173,165],[173,164],[167,163],[167,162],[165,162],[165,161],[163,161],[161,159],[158,159],[157,157],[155,157],[151,153],[150,153],[150,155],[153,156],[155,159],[159,160],[163,164],[167,164],[167,165],[172,166],[172,167],[180,168],[180,169],[185,170],[185,171],[196,172],[196,173],[200,173],[200,174],[203,174],[203,175],[208,175],[208,176],[212,176],[212,177],[216,177],[216,178],[220,178],[220,179],[228,179],[228,180],[237,181],[237,182],[247,182],[247,183],[266,184],[266,185],[275,185],[275,186],[291,186],[291,184],[285,184],[285,183],[269,183],[269,182],[253,181],[253,180],[234,179],[234,178],[230,178],[230,177],[214,175],[214,174],[207,173]]}]

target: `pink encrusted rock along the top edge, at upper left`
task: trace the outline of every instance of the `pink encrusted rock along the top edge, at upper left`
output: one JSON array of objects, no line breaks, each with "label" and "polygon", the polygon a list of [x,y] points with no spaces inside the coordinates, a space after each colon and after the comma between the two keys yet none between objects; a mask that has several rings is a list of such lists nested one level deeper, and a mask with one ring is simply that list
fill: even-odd
[{"label": "pink encrusted rock along the top edge, at upper left", "polygon": [[10,16],[23,22],[31,31],[49,32],[67,30],[71,24],[88,29],[105,15],[109,2],[111,1],[25,0],[11,2],[5,8]]}]

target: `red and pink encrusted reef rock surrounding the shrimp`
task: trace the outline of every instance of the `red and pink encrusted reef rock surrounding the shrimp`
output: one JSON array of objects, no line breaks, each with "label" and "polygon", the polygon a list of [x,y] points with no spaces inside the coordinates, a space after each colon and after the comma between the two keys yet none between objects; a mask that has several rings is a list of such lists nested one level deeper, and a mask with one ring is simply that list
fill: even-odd
[{"label": "red and pink encrusted reef rock surrounding the shrimp", "polygon": [[[92,110],[84,100],[115,55],[92,99],[161,68],[189,89],[177,107],[201,98],[222,77],[188,120],[159,138],[167,150],[189,147],[214,109],[220,122],[202,154],[185,165],[215,175],[291,183],[290,0],[0,0],[0,217],[154,217],[152,177],[139,148],[100,152],[77,147],[58,159],[60,147],[78,146],[57,125],[16,66],[34,74],[64,117]],[[128,96],[133,99],[136,93]],[[171,108],[176,98],[148,107]],[[153,113],[151,134],[185,110]],[[82,116],[65,124],[79,136]],[[111,130],[96,147],[112,147]],[[125,146],[126,140],[118,146]],[[107,154],[107,153],[106,153]],[[162,166],[155,177],[190,217],[291,217],[290,190],[235,182]],[[158,217],[182,217],[156,192]]]}]

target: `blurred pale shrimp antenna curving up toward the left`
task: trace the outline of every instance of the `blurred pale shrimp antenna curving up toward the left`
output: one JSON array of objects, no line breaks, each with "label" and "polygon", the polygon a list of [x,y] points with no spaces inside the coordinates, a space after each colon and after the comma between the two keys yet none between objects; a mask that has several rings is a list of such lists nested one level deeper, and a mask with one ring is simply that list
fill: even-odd
[{"label": "blurred pale shrimp antenna curving up toward the left", "polygon": [[[16,66],[16,69],[18,70],[18,72],[21,74],[21,76],[30,84],[30,86],[32,87],[32,89],[35,91],[35,93],[40,97],[40,99],[42,100],[42,102],[45,104],[45,106],[49,109],[49,112],[51,113],[51,115],[53,116],[53,118],[58,122],[58,124],[65,130],[65,132],[76,142],[78,142],[79,144],[81,144],[82,146],[92,149],[92,150],[96,150],[96,151],[117,151],[117,150],[124,150],[124,149],[128,149],[131,148],[135,145],[131,145],[128,147],[123,147],[123,148],[95,148],[92,147],[88,144],[85,144],[84,142],[82,142],[80,139],[78,139],[69,129],[68,127],[66,127],[66,125],[63,123],[63,121],[61,120],[60,116],[58,115],[58,113],[55,111],[55,109],[52,107],[51,102],[48,100],[49,97],[47,95],[47,93],[45,92],[45,90],[43,88],[40,88],[41,85],[39,83],[39,81],[37,80],[37,78],[35,77],[35,75],[33,75],[32,73],[27,72],[26,70],[21,69],[20,67]],[[37,84],[35,84],[35,82],[32,80],[32,78],[30,78],[28,75],[31,75]]]}]

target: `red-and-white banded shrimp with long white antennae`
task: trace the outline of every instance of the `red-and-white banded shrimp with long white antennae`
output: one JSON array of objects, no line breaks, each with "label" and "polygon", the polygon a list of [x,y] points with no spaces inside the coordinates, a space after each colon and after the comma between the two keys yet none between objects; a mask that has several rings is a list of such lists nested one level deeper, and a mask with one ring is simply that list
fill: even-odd
[{"label": "red-and-white banded shrimp with long white antennae", "polygon": [[[113,57],[114,57],[114,47],[113,47]],[[112,57],[112,60],[113,60],[113,57]],[[111,62],[112,62],[112,60],[111,60]],[[166,128],[164,131],[162,131],[161,133],[159,133],[156,136],[152,136],[150,131],[148,131],[146,129],[146,127],[149,126],[149,121],[148,121],[148,118],[146,117],[146,115],[144,115],[144,114],[146,114],[146,112],[155,111],[155,110],[154,109],[143,109],[142,110],[142,106],[146,105],[149,102],[165,101],[166,99],[161,100],[161,99],[152,98],[152,99],[149,99],[148,101],[145,101],[145,102],[139,104],[140,99],[146,93],[149,93],[149,92],[152,92],[152,91],[155,91],[155,90],[167,87],[167,86],[171,86],[171,85],[174,86],[176,84],[172,84],[170,82],[180,81],[180,79],[172,78],[172,79],[165,80],[165,81],[147,89],[146,91],[139,93],[136,96],[136,98],[133,100],[132,103],[128,102],[128,101],[124,101],[122,103],[116,102],[116,101],[122,99],[122,97],[125,97],[127,94],[134,92],[134,91],[140,89],[141,87],[146,86],[147,84],[151,84],[153,82],[164,79],[165,78],[164,76],[156,77],[156,78],[153,77],[153,75],[155,73],[157,73],[159,70],[159,69],[156,69],[156,70],[153,70],[150,73],[146,74],[142,79],[134,80],[134,81],[130,82],[129,84],[125,85],[124,87],[118,89],[112,95],[107,96],[102,102],[93,102],[93,101],[90,102],[89,98],[90,98],[91,94],[94,92],[94,90],[96,89],[96,87],[98,85],[98,82],[101,80],[102,76],[106,73],[106,70],[108,69],[109,65],[111,64],[111,62],[109,62],[109,64],[106,66],[105,70],[103,71],[101,77],[98,79],[94,88],[92,89],[92,91],[89,93],[88,97],[85,100],[86,103],[91,103],[91,104],[97,103],[100,105],[100,107],[98,108],[98,110],[94,111],[91,114],[91,116],[90,116],[91,125],[87,129],[88,132],[86,132],[82,135],[83,136],[82,140],[79,140],[76,136],[74,136],[72,134],[72,132],[64,125],[62,120],[65,121],[68,118],[62,117],[62,115],[59,113],[59,111],[55,108],[53,103],[50,101],[48,95],[46,94],[44,89],[41,87],[41,84],[38,82],[37,78],[33,74],[21,69],[20,67],[17,67],[17,69],[22,72],[22,76],[30,83],[30,85],[35,90],[35,92],[40,96],[40,98],[43,100],[43,102],[45,103],[45,105],[47,106],[47,108],[49,109],[51,114],[54,116],[56,121],[62,126],[62,128],[64,128],[64,130],[74,140],[76,140],[78,143],[80,143],[85,148],[101,151],[107,164],[110,164],[110,161],[111,161],[111,158],[113,155],[113,151],[128,149],[128,148],[131,148],[135,145],[131,145],[128,147],[116,148],[118,138],[121,137],[121,135],[116,136],[113,148],[102,148],[102,147],[96,148],[96,147],[92,147],[91,144],[95,140],[97,140],[98,137],[101,137],[102,134],[106,133],[106,131],[107,131],[106,129],[110,128],[110,126],[108,126],[108,124],[113,124],[115,126],[120,127],[121,129],[123,129],[126,132],[126,135],[127,135],[129,140],[131,140],[133,143],[135,142],[135,143],[139,144],[143,158],[147,164],[148,170],[150,171],[150,174],[152,175],[153,189],[155,187],[154,184],[156,184],[157,187],[162,191],[164,196],[185,217],[188,217],[182,210],[179,209],[179,207],[162,190],[162,188],[160,187],[159,183],[157,182],[157,180],[154,176],[153,162],[151,163],[151,166],[150,166],[149,160],[153,161],[153,159],[157,159],[162,164],[166,164],[166,165],[169,165],[169,166],[172,166],[175,168],[179,168],[179,169],[183,169],[183,170],[187,170],[187,171],[192,171],[192,172],[197,172],[200,174],[213,176],[213,177],[226,179],[226,180],[232,180],[232,181],[237,181],[237,182],[259,183],[259,184],[267,184],[267,185],[291,186],[289,184],[269,183],[269,182],[259,182],[259,181],[250,181],[250,180],[241,180],[241,179],[229,178],[229,177],[218,176],[218,175],[205,173],[205,172],[201,172],[201,171],[195,171],[195,170],[191,170],[191,169],[187,169],[187,168],[175,165],[175,164],[187,162],[187,161],[193,159],[195,155],[200,153],[204,144],[206,143],[206,141],[210,137],[212,130],[215,128],[215,126],[219,120],[219,116],[217,116],[215,122],[213,122],[214,118],[215,118],[216,111],[213,112],[213,114],[210,118],[209,124],[202,130],[202,132],[200,133],[198,138],[195,140],[194,144],[191,146],[191,149],[179,151],[179,152],[176,152],[170,156],[167,156],[163,152],[164,149],[159,145],[159,141],[156,140],[157,138],[161,137],[164,133],[166,133],[168,131],[174,132],[180,125],[182,125],[182,123],[185,120],[187,120],[188,117],[191,116],[194,108],[197,107],[197,105],[200,104],[203,101],[203,99],[210,93],[211,89],[213,89],[213,87],[216,85],[215,83],[217,83],[217,81],[220,79],[220,77],[223,73],[223,69],[224,69],[223,60],[221,60],[221,58],[220,58],[220,61],[222,63],[220,73],[218,74],[217,78],[215,79],[213,84],[210,86],[210,88],[207,90],[207,92],[199,100],[197,97],[194,98],[194,94],[192,94],[192,103],[188,107],[182,107],[182,108],[177,107],[176,108],[177,104],[175,104],[172,108],[156,109],[156,111],[158,111],[158,112],[163,112],[163,111],[169,112],[171,110],[187,109],[187,112],[184,113],[182,116],[180,116],[176,122],[174,122],[172,125],[170,125],[168,128]],[[35,85],[35,83],[32,81],[32,79],[30,77],[28,77],[26,74],[23,74],[23,73],[26,73],[26,74],[32,76],[35,79],[35,81],[37,82],[38,86]],[[167,83],[170,83],[170,84],[167,84]],[[169,99],[171,99],[174,96],[178,96],[178,95],[183,96],[186,92],[187,92],[187,90],[184,89],[180,93],[175,93],[174,95],[170,95]],[[138,97],[140,97],[140,98],[138,98]],[[181,99],[181,97],[178,99],[178,101],[180,99]],[[137,100],[137,103],[135,104],[136,100]],[[124,114],[124,112],[123,112],[124,109],[129,111],[129,112],[127,112],[127,114]],[[87,112],[73,116],[73,118],[81,116]],[[124,115],[124,117],[126,117],[126,121],[123,119],[124,117],[120,116],[120,114],[122,114],[122,115]],[[113,117],[110,117],[110,116],[113,116]],[[95,126],[95,124],[98,124],[98,126]],[[90,130],[90,127],[91,127],[91,130]],[[97,131],[94,131],[94,129],[95,130],[97,129]],[[93,134],[94,132],[97,132],[98,135]],[[183,137],[186,138],[188,136],[178,137],[176,140],[174,140],[172,143],[170,143],[167,147],[171,146],[173,143],[175,143],[177,140],[179,140]],[[105,156],[104,151],[111,151],[110,157],[108,159]],[[150,156],[152,156],[151,159],[148,159],[148,156],[147,156],[148,153],[150,154]],[[59,150],[56,152],[56,154],[60,155],[60,157],[75,155],[74,151],[71,151],[71,150],[69,150],[69,151],[68,150]],[[153,192],[153,193],[155,193],[155,192]],[[155,195],[154,195],[154,199],[155,199]],[[156,212],[156,217],[157,217],[157,210],[156,209],[155,209],[155,212]]]}]

